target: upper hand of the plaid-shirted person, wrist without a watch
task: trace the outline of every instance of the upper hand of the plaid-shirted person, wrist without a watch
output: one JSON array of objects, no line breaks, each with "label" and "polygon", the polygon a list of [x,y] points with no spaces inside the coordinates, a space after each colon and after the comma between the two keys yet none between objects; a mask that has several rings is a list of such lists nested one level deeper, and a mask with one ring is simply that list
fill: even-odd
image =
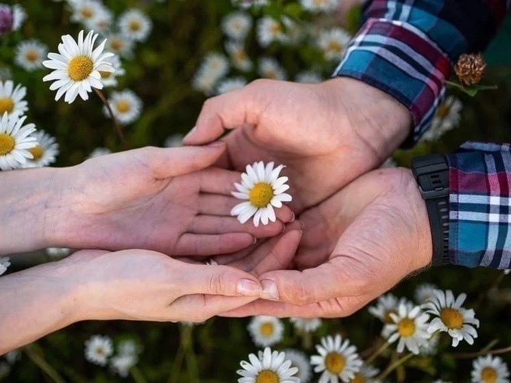
[{"label": "upper hand of the plaid-shirted person, wrist without a watch", "polygon": [[321,84],[260,79],[206,100],[184,143],[202,145],[234,129],[219,166],[285,164],[290,206],[301,212],[383,162],[411,121],[395,99],[348,77]]}]

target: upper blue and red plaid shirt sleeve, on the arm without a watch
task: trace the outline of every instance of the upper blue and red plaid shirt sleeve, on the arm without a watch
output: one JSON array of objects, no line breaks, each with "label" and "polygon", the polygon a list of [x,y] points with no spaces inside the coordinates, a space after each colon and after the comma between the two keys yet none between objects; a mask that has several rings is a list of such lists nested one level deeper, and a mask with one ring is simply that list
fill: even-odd
[{"label": "upper blue and red plaid shirt sleeve, on the arm without a watch", "polygon": [[505,0],[369,1],[334,76],[360,79],[410,109],[411,146],[432,121],[452,63],[482,51],[505,13]]}]

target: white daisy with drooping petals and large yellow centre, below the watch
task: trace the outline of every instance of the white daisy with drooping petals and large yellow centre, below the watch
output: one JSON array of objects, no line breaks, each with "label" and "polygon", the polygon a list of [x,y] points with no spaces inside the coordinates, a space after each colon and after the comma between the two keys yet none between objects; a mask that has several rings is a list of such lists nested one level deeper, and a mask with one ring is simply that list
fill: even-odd
[{"label": "white daisy with drooping petals and large yellow centre, below the watch", "polygon": [[466,299],[466,294],[458,295],[454,298],[453,292],[450,290],[433,291],[433,297],[429,299],[423,308],[426,312],[436,315],[427,331],[429,333],[447,332],[453,338],[452,345],[456,347],[463,339],[472,345],[474,338],[477,338],[476,327],[479,327],[479,320],[475,319],[475,312],[473,309],[466,310],[462,308],[462,304]]}]

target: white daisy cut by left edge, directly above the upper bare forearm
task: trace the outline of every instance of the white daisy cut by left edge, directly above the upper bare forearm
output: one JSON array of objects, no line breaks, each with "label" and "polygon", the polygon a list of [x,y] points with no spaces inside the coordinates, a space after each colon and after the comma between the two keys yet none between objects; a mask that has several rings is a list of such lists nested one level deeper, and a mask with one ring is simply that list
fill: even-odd
[{"label": "white daisy cut by left edge, directly above the upper bare forearm", "polygon": [[36,128],[33,123],[23,125],[27,116],[9,116],[5,112],[0,119],[0,169],[18,169],[32,158],[28,149],[37,145],[31,136]]}]

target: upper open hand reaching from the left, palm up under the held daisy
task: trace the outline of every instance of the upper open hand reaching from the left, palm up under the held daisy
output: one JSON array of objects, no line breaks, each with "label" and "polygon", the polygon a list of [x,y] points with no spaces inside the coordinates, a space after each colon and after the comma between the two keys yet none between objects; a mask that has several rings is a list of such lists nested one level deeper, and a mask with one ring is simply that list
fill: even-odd
[{"label": "upper open hand reaching from the left, palm up under the held daisy", "polygon": [[208,167],[224,150],[223,143],[147,147],[64,169],[58,201],[63,217],[53,246],[207,256],[281,233],[293,217],[287,207],[279,209],[275,223],[260,227],[229,215],[240,202],[230,195],[240,173]]}]

